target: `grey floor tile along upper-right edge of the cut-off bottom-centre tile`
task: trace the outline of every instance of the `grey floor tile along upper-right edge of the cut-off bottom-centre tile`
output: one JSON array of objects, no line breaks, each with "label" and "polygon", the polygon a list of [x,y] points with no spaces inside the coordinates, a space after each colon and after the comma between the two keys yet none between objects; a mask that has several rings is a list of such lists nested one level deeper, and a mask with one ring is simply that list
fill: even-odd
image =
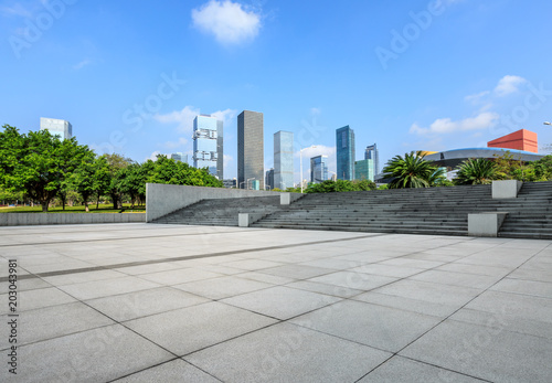
[{"label": "grey floor tile along upper-right edge of the cut-off bottom-centre tile", "polygon": [[293,323],[396,352],[439,318],[360,301],[342,301],[291,319]]}]

